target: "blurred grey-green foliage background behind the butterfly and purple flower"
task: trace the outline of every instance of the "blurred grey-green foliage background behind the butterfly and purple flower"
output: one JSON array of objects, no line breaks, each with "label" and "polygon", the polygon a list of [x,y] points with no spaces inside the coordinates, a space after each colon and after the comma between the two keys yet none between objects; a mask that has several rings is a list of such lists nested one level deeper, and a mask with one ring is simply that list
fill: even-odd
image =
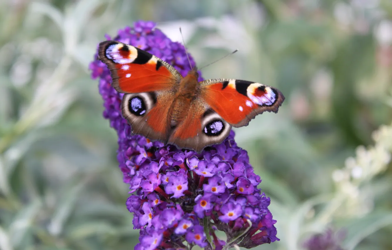
[{"label": "blurred grey-green foliage background behind the butterfly and purple flower", "polygon": [[88,65],[139,19],[176,41],[181,26],[199,66],[239,49],[204,78],[285,95],[236,129],[278,221],[281,241],[257,249],[303,249],[326,228],[345,228],[344,249],[392,249],[391,0],[2,0],[1,250],[138,242]]}]

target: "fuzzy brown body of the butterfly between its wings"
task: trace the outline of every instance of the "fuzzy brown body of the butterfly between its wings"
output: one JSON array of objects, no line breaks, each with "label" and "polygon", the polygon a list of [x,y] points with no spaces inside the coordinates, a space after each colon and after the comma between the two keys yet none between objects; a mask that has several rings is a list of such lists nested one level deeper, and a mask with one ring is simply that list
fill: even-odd
[{"label": "fuzzy brown body of the butterfly between its wings", "polygon": [[200,92],[197,69],[192,69],[181,79],[174,101],[169,110],[170,126],[175,127],[184,120],[192,100]]}]

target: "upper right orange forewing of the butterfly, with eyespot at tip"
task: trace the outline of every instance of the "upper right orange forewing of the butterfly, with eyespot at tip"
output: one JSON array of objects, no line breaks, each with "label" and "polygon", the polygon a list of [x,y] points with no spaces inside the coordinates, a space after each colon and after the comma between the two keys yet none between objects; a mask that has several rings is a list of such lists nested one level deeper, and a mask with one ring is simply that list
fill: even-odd
[{"label": "upper right orange forewing of the butterfly, with eyespot at tip", "polygon": [[278,112],[285,100],[273,87],[243,80],[212,79],[203,81],[200,97],[233,127],[247,126],[257,114]]}]

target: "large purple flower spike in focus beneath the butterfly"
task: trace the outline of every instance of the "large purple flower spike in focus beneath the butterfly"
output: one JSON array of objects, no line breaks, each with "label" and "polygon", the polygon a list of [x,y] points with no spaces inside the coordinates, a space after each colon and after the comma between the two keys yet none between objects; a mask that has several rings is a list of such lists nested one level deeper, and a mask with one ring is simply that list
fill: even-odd
[{"label": "large purple flower spike in focus beneath the butterfly", "polygon": [[[191,68],[185,48],[154,26],[136,22],[118,31],[114,40],[148,51],[187,74]],[[236,146],[234,132],[201,153],[132,135],[121,116],[122,94],[111,86],[106,65],[95,60],[90,69],[92,77],[99,78],[103,116],[118,133],[117,158],[133,193],[126,205],[134,213],[134,228],[140,229],[135,249],[252,248],[279,240],[268,210],[270,199],[257,188],[261,179],[247,152]],[[225,241],[217,231],[225,232]]]}]

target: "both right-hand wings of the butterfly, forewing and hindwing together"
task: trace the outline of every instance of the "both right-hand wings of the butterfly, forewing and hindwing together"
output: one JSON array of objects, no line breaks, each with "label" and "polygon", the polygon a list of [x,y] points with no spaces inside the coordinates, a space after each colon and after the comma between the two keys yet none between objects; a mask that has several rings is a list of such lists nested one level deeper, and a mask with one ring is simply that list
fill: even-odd
[{"label": "both right-hand wings of the butterfly, forewing and hindwing together", "polygon": [[169,143],[196,151],[221,143],[232,126],[246,126],[257,114],[278,112],[285,99],[273,87],[242,80],[213,79],[200,85],[199,96],[169,137]]}]

